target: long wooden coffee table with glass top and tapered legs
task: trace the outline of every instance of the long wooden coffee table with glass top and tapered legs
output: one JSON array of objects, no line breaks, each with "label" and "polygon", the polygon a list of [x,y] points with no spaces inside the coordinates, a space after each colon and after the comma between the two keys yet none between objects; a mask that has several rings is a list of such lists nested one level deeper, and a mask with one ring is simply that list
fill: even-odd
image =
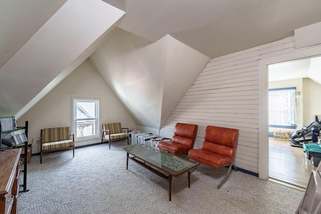
[{"label": "long wooden coffee table with glass top and tapered legs", "polygon": [[172,178],[180,177],[188,173],[190,188],[191,170],[197,168],[200,163],[187,160],[165,151],[156,150],[144,144],[132,145],[122,148],[127,152],[126,170],[128,159],[133,160],[156,175],[169,181],[169,199],[172,195]]}]

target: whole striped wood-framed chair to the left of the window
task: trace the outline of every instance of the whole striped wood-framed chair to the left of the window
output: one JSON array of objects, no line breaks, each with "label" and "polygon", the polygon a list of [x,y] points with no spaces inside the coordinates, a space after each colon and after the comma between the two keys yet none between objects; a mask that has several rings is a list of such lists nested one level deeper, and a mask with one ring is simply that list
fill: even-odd
[{"label": "whole striped wood-framed chair to the left of the window", "polygon": [[75,156],[74,134],[70,134],[70,127],[41,129],[40,145],[40,163],[43,154],[54,151],[72,149]]}]

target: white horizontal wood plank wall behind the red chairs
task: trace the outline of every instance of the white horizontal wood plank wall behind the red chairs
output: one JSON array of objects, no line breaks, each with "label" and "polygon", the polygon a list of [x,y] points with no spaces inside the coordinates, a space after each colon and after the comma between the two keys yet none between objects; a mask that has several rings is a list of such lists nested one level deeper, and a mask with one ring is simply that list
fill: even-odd
[{"label": "white horizontal wood plank wall behind the red chairs", "polygon": [[258,62],[294,51],[294,37],[213,58],[159,131],[172,138],[177,122],[198,124],[195,148],[207,125],[239,129],[236,166],[258,173]]}]

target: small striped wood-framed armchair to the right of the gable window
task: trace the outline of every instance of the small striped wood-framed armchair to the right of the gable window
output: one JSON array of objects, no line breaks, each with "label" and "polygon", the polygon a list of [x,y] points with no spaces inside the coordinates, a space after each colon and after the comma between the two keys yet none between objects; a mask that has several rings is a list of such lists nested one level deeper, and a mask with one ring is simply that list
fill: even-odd
[{"label": "small striped wood-framed armchair to the right of the gable window", "polygon": [[[127,132],[123,132],[123,129]],[[114,141],[127,140],[127,144],[129,145],[128,128],[122,128],[121,123],[102,124],[101,142],[104,140],[109,142],[109,149],[111,142]]]}]

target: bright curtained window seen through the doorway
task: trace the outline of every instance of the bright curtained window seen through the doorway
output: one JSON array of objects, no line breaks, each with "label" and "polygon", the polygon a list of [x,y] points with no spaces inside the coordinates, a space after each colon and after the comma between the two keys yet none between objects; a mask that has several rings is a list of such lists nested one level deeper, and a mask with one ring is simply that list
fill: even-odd
[{"label": "bright curtained window seen through the doorway", "polygon": [[296,127],[295,88],[269,89],[269,126]]}]

